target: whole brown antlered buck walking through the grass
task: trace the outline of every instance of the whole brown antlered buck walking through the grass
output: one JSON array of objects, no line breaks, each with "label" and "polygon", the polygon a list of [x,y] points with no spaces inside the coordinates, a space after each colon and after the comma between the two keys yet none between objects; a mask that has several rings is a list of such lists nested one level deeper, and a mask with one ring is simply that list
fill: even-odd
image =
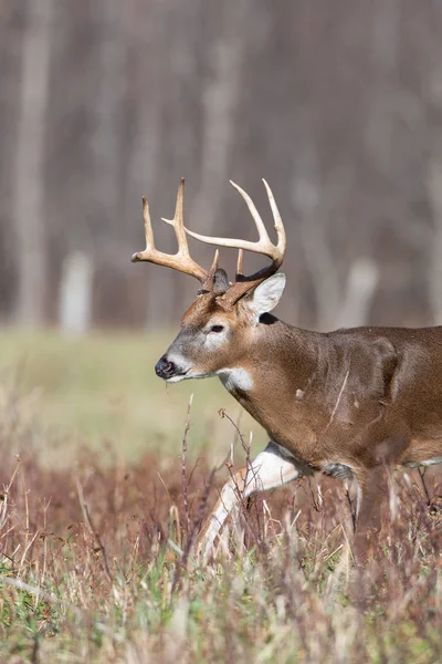
[{"label": "whole brown antlered buck walking through the grass", "polygon": [[[256,225],[259,240],[199,235],[183,226],[183,179],[170,224],[173,256],[155,248],[146,198],[147,247],[133,261],[149,261],[190,274],[200,290],[175,341],[155,366],[168,383],[219,376],[225,388],[264,427],[270,442],[220,492],[198,539],[210,556],[217,537],[243,498],[322,471],[352,478],[359,487],[359,523],[379,526],[386,467],[442,461],[442,328],[355,328],[319,333],[286,324],[270,312],[285,277],[278,272],[286,236],[265,180],[277,241],[273,243],[249,195],[234,183]],[[219,252],[204,270],[190,257],[187,235],[239,249],[236,278],[219,268]],[[271,263],[243,274],[243,251]],[[361,547],[368,547],[370,529]],[[368,538],[368,540],[367,540]],[[364,552],[362,552],[364,556]]]}]

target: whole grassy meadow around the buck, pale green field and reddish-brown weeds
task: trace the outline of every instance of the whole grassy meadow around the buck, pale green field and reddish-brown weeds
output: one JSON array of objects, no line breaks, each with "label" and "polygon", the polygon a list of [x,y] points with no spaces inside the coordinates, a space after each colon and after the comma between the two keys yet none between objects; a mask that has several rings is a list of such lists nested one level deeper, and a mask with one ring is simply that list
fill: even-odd
[{"label": "whole grassy meadow around the buck, pale green field and reddish-brown weeds", "polygon": [[441,471],[391,478],[364,568],[351,491],[324,478],[254,497],[192,558],[266,440],[217,381],[166,388],[169,339],[0,333],[0,661],[441,662]]}]

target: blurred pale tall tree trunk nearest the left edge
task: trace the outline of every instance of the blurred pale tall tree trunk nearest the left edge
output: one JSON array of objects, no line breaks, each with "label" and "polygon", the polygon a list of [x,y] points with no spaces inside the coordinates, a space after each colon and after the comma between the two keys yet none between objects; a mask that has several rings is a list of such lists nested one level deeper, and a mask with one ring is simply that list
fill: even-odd
[{"label": "blurred pale tall tree trunk nearest the left edge", "polygon": [[15,321],[44,322],[44,122],[48,106],[53,0],[29,0],[23,37],[21,93],[13,183],[18,292]]}]

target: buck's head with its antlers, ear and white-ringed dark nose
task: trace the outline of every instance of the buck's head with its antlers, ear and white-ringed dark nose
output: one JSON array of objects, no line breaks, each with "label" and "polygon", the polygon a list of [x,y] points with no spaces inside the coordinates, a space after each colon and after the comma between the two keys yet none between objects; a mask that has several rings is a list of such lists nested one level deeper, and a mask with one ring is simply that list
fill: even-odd
[{"label": "buck's head with its antlers, ear and white-ringed dark nose", "polygon": [[[212,238],[185,228],[182,209],[185,180],[181,179],[173,219],[162,219],[173,227],[178,251],[173,256],[162,253],[155,248],[149,206],[147,199],[143,198],[147,246],[144,251],[134,253],[133,261],[149,261],[173,268],[191,274],[201,283],[194,302],[182,318],[178,336],[155,366],[157,375],[165,381],[171,383],[185,378],[203,378],[215,374],[221,375],[227,369],[240,367],[253,335],[256,334],[261,317],[274,309],[280,301],[285,277],[276,272],[283,262],[286,237],[272,190],[265,180],[263,183],[273,212],[276,245],[272,243],[250,196],[234,183],[231,183],[232,186],[245,200],[253,217],[259,240],[251,242],[241,239]],[[235,281],[229,282],[225,271],[219,268],[218,249],[210,270],[207,271],[196,263],[190,257],[186,235],[209,245],[239,249]],[[272,262],[254,274],[245,277],[244,250],[262,253]]]}]

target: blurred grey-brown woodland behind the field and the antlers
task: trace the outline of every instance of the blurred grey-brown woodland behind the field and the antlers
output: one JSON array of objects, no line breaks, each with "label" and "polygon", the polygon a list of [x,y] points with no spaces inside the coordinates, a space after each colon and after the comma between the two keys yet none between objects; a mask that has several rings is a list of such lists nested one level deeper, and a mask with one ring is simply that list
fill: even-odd
[{"label": "blurred grey-brown woodland behind the field and the antlers", "polygon": [[159,219],[180,176],[189,226],[249,239],[228,179],[267,219],[264,176],[288,232],[282,315],[440,321],[441,35],[438,0],[0,1],[2,318],[54,321],[78,250],[95,324],[177,321],[192,280],[129,262],[141,195],[175,251]]}]

